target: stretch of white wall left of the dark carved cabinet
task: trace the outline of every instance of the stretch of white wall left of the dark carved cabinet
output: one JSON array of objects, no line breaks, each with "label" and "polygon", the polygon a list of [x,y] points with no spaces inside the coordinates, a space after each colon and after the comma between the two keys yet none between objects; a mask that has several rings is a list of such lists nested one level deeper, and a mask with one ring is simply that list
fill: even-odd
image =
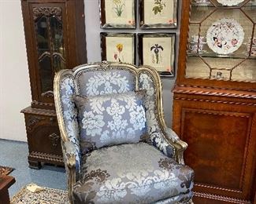
[{"label": "stretch of white wall left of the dark carved cabinet", "polygon": [[19,0],[0,0],[0,138],[27,140],[24,115],[31,103]]}]

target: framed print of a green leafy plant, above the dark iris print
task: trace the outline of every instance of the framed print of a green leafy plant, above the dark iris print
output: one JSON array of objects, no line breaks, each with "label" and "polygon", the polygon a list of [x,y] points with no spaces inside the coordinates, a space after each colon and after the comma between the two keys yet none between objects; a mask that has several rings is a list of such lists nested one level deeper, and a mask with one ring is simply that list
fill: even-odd
[{"label": "framed print of a green leafy plant, above the dark iris print", "polygon": [[177,27],[177,0],[139,0],[139,15],[143,29]]}]

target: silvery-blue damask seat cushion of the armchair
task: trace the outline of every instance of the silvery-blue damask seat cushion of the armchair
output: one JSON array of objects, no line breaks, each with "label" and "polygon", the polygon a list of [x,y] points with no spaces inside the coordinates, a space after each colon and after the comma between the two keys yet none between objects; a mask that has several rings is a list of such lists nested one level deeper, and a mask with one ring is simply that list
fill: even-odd
[{"label": "silvery-blue damask seat cushion of the armchair", "polygon": [[146,143],[101,148],[83,156],[75,203],[150,203],[187,194],[194,172]]}]

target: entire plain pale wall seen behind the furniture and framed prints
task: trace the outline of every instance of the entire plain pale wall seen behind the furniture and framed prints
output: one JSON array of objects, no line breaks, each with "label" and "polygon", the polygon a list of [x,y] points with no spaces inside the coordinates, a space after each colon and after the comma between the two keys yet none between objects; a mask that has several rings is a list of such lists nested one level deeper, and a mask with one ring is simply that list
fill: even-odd
[{"label": "entire plain pale wall seen behind the furniture and framed prints", "polygon": [[[99,26],[98,1],[84,0],[84,5],[87,59],[100,61],[99,32],[103,30]],[[20,110],[30,105],[32,97],[20,0],[0,0],[0,27],[0,138],[26,141],[24,115]],[[165,119],[171,126],[174,79],[162,82]]]}]

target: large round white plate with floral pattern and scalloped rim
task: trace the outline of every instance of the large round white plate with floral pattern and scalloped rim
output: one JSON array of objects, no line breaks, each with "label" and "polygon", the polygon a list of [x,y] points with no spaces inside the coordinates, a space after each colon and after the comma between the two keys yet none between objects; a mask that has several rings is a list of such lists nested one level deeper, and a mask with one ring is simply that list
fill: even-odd
[{"label": "large round white plate with floral pattern and scalloped rim", "polygon": [[243,43],[243,27],[234,19],[215,21],[208,29],[206,42],[214,53],[234,53]]}]

